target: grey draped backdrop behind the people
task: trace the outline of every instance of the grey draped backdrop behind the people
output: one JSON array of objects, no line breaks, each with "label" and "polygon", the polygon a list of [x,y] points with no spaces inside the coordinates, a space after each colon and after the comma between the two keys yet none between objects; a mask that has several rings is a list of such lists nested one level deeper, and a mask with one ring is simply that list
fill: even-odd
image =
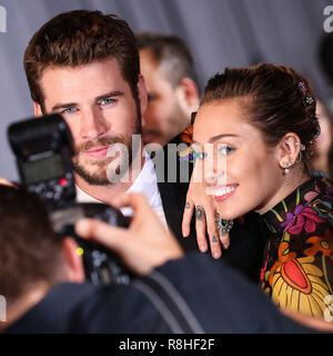
[{"label": "grey draped backdrop behind the people", "polygon": [[[333,1],[331,1],[333,4]],[[289,65],[325,99],[317,59],[325,33],[325,0],[0,0],[7,32],[0,33],[0,176],[17,179],[7,126],[33,115],[22,58],[32,34],[53,16],[101,10],[125,19],[134,32],[174,33],[192,48],[201,88],[216,71],[259,61]]]}]

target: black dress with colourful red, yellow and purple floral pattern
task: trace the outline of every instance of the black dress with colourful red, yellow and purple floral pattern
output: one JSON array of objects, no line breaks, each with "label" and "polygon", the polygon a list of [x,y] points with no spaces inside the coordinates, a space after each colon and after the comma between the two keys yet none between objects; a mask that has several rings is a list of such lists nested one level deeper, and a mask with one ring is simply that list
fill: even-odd
[{"label": "black dress with colourful red, yellow and purple floral pattern", "polygon": [[333,181],[312,177],[265,212],[261,287],[282,308],[333,323]]}]

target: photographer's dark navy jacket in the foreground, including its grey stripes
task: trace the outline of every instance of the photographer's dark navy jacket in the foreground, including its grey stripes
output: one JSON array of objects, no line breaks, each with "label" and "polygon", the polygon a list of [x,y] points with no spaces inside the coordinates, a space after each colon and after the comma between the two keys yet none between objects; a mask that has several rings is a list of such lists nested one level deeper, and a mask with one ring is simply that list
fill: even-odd
[{"label": "photographer's dark navy jacket in the foreground, including its grey stripes", "polygon": [[226,265],[186,254],[131,285],[58,285],[7,334],[312,333]]}]

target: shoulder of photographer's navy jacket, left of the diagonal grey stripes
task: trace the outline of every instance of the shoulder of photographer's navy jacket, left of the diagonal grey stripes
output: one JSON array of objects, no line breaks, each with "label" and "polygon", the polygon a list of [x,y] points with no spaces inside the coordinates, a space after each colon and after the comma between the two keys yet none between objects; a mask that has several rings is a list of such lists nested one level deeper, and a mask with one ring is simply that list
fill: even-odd
[{"label": "shoulder of photographer's navy jacket, left of the diagonal grey stripes", "polygon": [[157,325],[168,332],[160,318],[132,284],[67,283],[53,287],[7,334],[152,333]]}]

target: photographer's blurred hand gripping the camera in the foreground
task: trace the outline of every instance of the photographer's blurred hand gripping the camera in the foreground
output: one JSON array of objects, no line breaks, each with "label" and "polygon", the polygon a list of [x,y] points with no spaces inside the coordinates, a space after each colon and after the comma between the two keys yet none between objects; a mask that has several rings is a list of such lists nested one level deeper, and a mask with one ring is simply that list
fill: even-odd
[{"label": "photographer's blurred hand gripping the camera in the foreground", "polygon": [[131,206],[134,210],[128,229],[84,218],[77,222],[75,233],[115,251],[138,275],[183,256],[176,239],[162,225],[144,196],[127,194],[117,201],[117,207],[121,206]]}]

